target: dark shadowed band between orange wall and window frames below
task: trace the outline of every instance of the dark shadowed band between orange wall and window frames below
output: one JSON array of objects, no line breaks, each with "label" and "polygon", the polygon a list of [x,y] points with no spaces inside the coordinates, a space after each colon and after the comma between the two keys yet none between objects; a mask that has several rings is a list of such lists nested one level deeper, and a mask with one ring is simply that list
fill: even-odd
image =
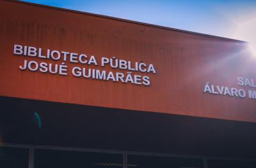
[{"label": "dark shadowed band between orange wall and window frames below", "polygon": [[256,123],[11,97],[0,104],[2,143],[256,158]]}]

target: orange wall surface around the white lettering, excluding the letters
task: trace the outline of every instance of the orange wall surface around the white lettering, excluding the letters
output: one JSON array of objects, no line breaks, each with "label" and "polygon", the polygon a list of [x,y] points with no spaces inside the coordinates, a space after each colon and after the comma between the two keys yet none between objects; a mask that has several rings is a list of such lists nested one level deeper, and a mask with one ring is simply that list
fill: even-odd
[{"label": "orange wall surface around the white lettering, excluding the letters", "polygon": [[[86,53],[99,60],[115,56],[143,61],[154,64],[157,73],[147,74],[151,84],[145,87],[20,71],[25,59],[61,62],[13,55],[14,44]],[[203,93],[206,82],[248,90],[237,85],[237,77],[256,81],[256,59],[244,52],[244,45],[241,41],[0,1],[0,95],[256,122],[256,100]],[[68,73],[74,66],[82,67],[66,63]],[[90,67],[116,71],[109,66]]]}]

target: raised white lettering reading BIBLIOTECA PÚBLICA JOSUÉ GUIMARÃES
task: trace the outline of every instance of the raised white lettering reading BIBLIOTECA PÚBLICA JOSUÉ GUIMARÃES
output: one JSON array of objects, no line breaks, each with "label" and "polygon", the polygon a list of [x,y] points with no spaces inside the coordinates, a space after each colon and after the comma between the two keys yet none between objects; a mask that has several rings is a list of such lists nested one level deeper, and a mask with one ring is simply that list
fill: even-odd
[{"label": "raised white lettering reading BIBLIOTECA P\u00daBLICA JOSU\u00c9 GUIMAR\u00c3ES", "polygon": [[[38,71],[40,73],[59,74],[62,76],[68,75],[68,65],[66,62],[78,64],[71,69],[71,75],[81,77],[84,79],[91,78],[94,80],[116,81],[121,83],[132,83],[134,85],[149,86],[150,77],[147,74],[156,74],[156,69],[153,64],[146,64],[145,62],[131,62],[129,60],[111,59],[107,57],[100,57],[97,59],[95,56],[90,57],[84,53],[72,53],[57,50],[43,50],[34,46],[14,45],[13,54],[35,57],[38,59],[48,59],[56,61],[56,64],[41,62],[40,60],[24,60],[19,69],[22,71]],[[100,61],[99,61],[100,60]],[[60,62],[58,64],[58,62]],[[90,66],[98,66],[102,68],[109,66],[112,69],[117,69],[117,72],[100,70],[90,68]],[[83,66],[83,67],[81,67]],[[127,70],[127,73],[120,70]],[[132,73],[143,73],[132,74]]]}]

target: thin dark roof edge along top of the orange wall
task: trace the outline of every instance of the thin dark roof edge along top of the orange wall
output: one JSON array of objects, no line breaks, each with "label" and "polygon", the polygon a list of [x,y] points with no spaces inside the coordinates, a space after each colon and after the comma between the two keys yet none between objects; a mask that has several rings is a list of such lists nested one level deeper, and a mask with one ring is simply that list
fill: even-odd
[{"label": "thin dark roof edge along top of the orange wall", "polygon": [[163,25],[148,24],[148,23],[145,23],[145,22],[138,22],[138,21],[134,21],[134,20],[128,20],[128,19],[125,19],[125,18],[109,17],[107,15],[89,13],[89,12],[86,12],[86,11],[70,10],[70,9],[67,9],[67,8],[60,8],[60,7],[49,6],[49,5],[45,5],[45,4],[28,3],[28,2],[20,1],[20,0],[4,0],[4,1],[9,1],[9,2],[12,2],[12,3],[27,4],[27,5],[37,6],[37,7],[41,7],[41,8],[50,8],[50,9],[54,9],[54,10],[68,11],[68,12],[79,13],[79,14],[84,14],[84,15],[91,15],[91,16],[94,16],[94,17],[109,18],[109,19],[118,20],[118,21],[122,21],[122,22],[129,22],[129,23],[132,23],[132,24],[147,25],[147,26],[150,26],[150,27],[157,27],[159,29],[166,29],[166,30],[170,30],[170,31],[177,31],[177,32],[183,32],[183,33],[187,33],[187,34],[195,34],[195,35],[198,35],[198,36],[205,36],[205,37],[208,37],[208,38],[223,39],[223,40],[227,40],[227,41],[236,41],[236,42],[240,42],[240,43],[248,43],[247,41],[242,41],[242,40],[239,40],[239,39],[224,38],[224,37],[221,37],[221,36],[214,36],[214,35],[204,34],[204,33],[200,33],[200,32],[185,31],[185,30],[182,30],[182,29],[175,29],[175,28],[166,27],[166,26],[163,26]]}]

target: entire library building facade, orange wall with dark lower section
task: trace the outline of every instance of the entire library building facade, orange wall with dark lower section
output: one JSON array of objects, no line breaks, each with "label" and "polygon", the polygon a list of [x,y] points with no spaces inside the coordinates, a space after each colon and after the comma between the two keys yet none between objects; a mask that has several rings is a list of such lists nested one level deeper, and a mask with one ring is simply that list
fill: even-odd
[{"label": "entire library building facade, orange wall with dark lower section", "polygon": [[2,167],[256,167],[247,43],[0,1]]}]

